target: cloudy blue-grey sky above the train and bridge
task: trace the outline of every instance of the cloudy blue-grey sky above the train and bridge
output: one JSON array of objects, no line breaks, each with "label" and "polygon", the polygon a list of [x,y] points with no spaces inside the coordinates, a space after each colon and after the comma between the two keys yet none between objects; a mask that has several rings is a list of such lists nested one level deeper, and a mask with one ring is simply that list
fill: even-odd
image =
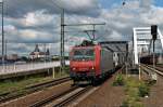
[{"label": "cloudy blue-grey sky above the train and bridge", "polygon": [[[105,23],[104,26],[96,27],[98,41],[130,41],[133,27],[149,27],[153,24],[163,32],[163,0],[3,1],[8,54],[29,54],[36,43],[39,43],[42,51],[43,43],[47,43],[46,48],[52,54],[59,54],[61,9],[65,10],[65,24]],[[71,31],[65,32],[66,53],[73,45],[89,39],[83,32],[86,29],[91,30],[92,27],[65,27],[66,31]]]}]

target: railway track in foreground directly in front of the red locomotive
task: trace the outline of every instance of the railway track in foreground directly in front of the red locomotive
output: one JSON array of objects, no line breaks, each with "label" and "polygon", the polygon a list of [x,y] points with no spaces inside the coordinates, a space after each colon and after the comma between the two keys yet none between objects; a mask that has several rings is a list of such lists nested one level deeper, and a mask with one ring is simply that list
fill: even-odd
[{"label": "railway track in foreground directly in front of the red locomotive", "polygon": [[65,92],[49,96],[42,101],[38,101],[35,104],[30,105],[29,107],[41,107],[41,106],[64,107],[91,89],[92,86],[90,85],[86,88],[73,86]]}]

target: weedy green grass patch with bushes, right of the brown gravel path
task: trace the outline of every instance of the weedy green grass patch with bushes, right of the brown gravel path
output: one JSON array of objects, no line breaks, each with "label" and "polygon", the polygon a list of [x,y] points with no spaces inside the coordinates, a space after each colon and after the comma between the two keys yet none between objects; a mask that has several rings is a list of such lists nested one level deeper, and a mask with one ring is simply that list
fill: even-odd
[{"label": "weedy green grass patch with bushes, right of the brown gravel path", "polygon": [[141,97],[149,96],[152,84],[151,81],[142,81],[124,75],[117,75],[113,82],[114,86],[123,85],[125,88],[126,98],[121,107],[143,107]]}]

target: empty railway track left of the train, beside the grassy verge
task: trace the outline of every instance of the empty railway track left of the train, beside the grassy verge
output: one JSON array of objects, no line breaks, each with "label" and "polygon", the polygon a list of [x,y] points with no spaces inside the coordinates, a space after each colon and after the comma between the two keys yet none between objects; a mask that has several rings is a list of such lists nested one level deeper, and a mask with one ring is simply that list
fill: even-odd
[{"label": "empty railway track left of the train, beside the grassy verge", "polygon": [[61,79],[55,79],[55,80],[51,80],[51,81],[47,81],[47,82],[42,82],[42,83],[28,85],[22,90],[15,90],[15,91],[7,92],[3,94],[0,94],[0,103],[9,102],[11,99],[15,99],[15,98],[18,98],[21,96],[43,90],[45,88],[58,85],[58,84],[64,83],[64,82],[70,81],[70,80],[71,80],[70,77],[65,77],[65,78],[61,78]]}]

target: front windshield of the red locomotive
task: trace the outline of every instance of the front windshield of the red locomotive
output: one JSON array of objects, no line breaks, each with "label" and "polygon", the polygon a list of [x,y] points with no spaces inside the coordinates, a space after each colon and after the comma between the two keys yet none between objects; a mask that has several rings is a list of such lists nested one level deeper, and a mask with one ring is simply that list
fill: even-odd
[{"label": "front windshield of the red locomotive", "polygon": [[95,50],[93,49],[76,49],[74,50],[73,61],[93,61]]}]

